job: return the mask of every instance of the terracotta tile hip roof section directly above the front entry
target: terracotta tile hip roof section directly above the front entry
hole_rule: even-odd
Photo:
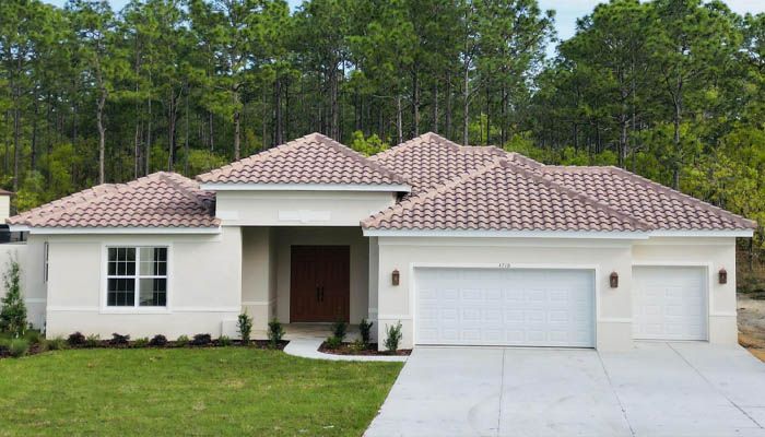
[[[407,185],[407,180],[320,133],[197,176],[209,184]]]

